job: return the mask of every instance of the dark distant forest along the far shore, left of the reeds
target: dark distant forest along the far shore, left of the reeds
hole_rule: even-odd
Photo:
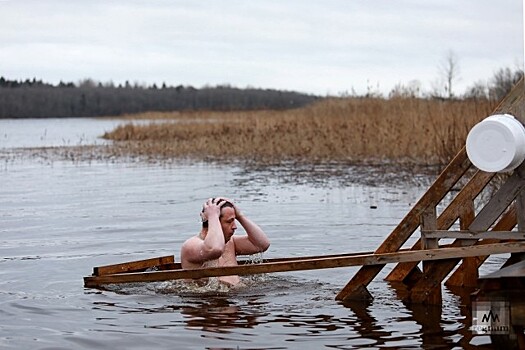
[[[240,89],[229,85],[141,86],[97,83],[57,85],[41,80],[15,81],[0,77],[0,118],[117,116],[146,111],[257,110],[304,106],[314,95],[271,89]]]

